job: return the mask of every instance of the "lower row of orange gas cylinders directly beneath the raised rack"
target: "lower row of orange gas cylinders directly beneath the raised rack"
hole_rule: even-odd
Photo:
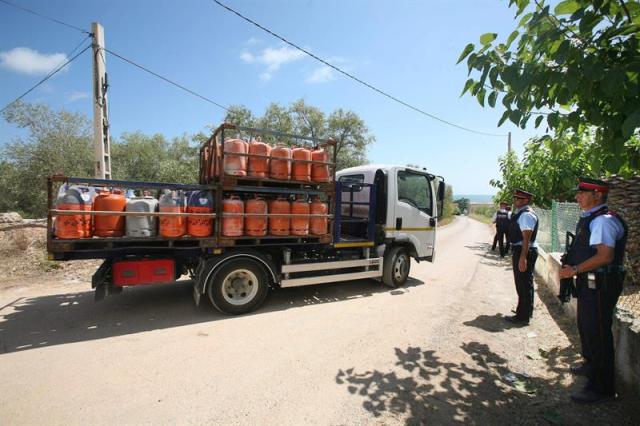
[[[266,200],[256,195],[243,200],[230,194],[222,200],[222,229],[225,237],[326,235],[328,205],[314,197],[298,196]]]

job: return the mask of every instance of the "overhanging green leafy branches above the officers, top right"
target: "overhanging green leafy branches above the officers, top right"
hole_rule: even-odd
[[[598,172],[637,173],[640,155],[628,141],[640,127],[640,3],[549,3],[509,0],[517,28],[502,42],[483,34],[460,55],[471,76],[463,94],[504,108],[498,125],[525,128],[535,118],[536,127],[545,123],[559,135],[594,128]]]

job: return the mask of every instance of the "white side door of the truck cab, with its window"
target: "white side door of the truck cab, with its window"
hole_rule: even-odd
[[[395,240],[411,242],[418,258],[432,257],[436,232],[430,176],[412,170],[398,170],[395,186],[395,200],[390,200],[394,204],[395,220],[392,224],[395,226],[387,229],[387,234],[391,233]]]

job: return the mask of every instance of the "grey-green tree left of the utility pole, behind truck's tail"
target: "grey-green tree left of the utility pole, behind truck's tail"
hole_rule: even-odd
[[[52,111],[43,104],[16,102],[4,119],[27,131],[0,152],[3,209],[42,217],[47,211],[47,177],[92,176],[91,123],[86,116]]]

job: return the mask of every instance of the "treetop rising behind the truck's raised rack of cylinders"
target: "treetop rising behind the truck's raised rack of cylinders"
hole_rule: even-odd
[[[375,141],[365,122],[356,113],[339,108],[326,116],[319,108],[308,105],[303,99],[295,101],[288,108],[272,103],[261,117],[255,117],[244,106],[235,105],[229,108],[225,121],[282,133],[333,138],[336,141],[338,170],[365,164],[367,146]],[[276,142],[274,137],[264,139]],[[279,138],[277,142],[290,145],[293,141]]]

